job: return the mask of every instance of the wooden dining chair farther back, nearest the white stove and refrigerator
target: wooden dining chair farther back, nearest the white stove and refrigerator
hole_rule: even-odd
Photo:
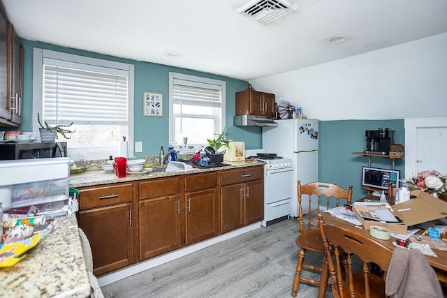
[[[307,195],[308,198],[303,200],[302,195]],[[320,204],[325,206],[326,209],[329,209],[338,207],[339,200],[346,200],[348,204],[351,204],[352,185],[349,186],[349,189],[344,189],[336,184],[326,182],[312,182],[302,186],[301,181],[298,180],[298,216],[300,220],[300,234],[296,237],[295,243],[300,246],[300,253],[298,264],[296,265],[295,277],[293,278],[292,297],[296,297],[301,281],[312,285],[320,284],[319,279],[303,277],[301,274],[303,268],[321,273],[321,267],[304,264],[306,251],[321,253],[322,262],[325,262],[325,248],[323,246],[321,234],[317,230],[317,227],[312,225],[312,202],[316,201],[317,213],[320,213]],[[305,205],[309,207],[309,213],[307,215],[302,214],[302,207]],[[321,276],[321,278],[327,278],[327,276]]]

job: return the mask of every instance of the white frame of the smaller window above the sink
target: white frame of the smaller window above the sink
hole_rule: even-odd
[[[221,87],[221,130],[223,131],[226,128],[226,82],[223,80],[214,80],[207,77],[199,77],[196,75],[185,75],[183,73],[169,73],[169,144],[175,142],[175,117],[174,117],[174,95],[173,95],[173,87],[174,80],[184,80],[191,82],[191,86],[196,84],[212,84]],[[188,85],[188,84],[185,84]],[[206,117],[203,117],[206,118]],[[221,133],[221,132],[219,132]],[[182,154],[191,154],[201,147],[207,146],[207,143],[203,144],[194,144],[193,149],[179,149]]]

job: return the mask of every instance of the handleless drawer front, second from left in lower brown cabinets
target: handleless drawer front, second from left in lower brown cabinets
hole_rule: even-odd
[[[151,179],[138,183],[139,199],[173,195],[180,192],[180,178]]]

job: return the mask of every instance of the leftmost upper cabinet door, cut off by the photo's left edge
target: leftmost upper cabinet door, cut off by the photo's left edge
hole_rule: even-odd
[[[10,117],[8,98],[8,20],[3,11],[3,5],[0,5],[0,118],[3,121],[9,121]]]

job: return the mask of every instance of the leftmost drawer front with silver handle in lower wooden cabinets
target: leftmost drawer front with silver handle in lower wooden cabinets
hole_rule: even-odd
[[[131,202],[132,184],[103,185],[80,188],[80,209],[85,210],[121,202]]]

